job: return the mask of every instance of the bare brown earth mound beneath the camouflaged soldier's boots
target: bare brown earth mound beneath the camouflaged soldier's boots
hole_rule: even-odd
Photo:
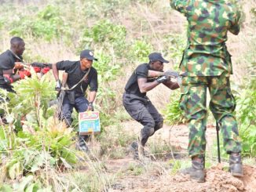
[[[244,166],[244,176],[242,179],[232,176],[223,170],[222,165],[215,166],[207,170],[205,183],[196,183],[189,176],[127,176],[119,180],[119,189],[110,191],[228,191],[239,192],[256,190],[256,168]]]

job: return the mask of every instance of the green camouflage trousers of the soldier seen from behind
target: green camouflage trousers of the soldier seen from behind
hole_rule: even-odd
[[[181,110],[188,118],[189,157],[203,158],[206,150],[207,89],[210,92],[210,110],[218,121],[225,151],[241,151],[241,143],[233,111],[236,101],[232,96],[229,77],[225,74],[210,77],[183,77],[181,85]]]

